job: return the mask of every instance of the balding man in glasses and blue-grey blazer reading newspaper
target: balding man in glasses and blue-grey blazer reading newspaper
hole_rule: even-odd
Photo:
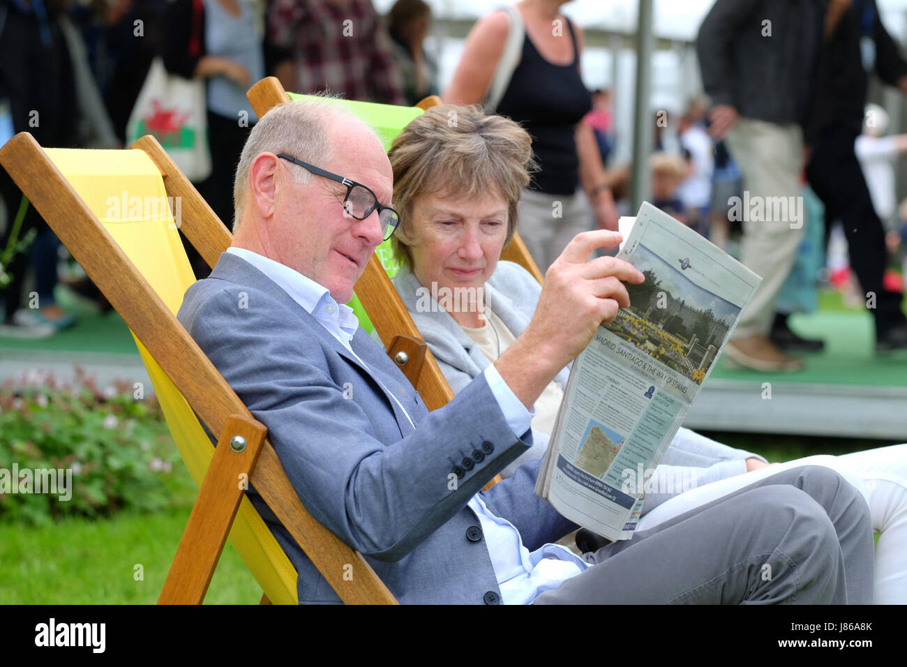
[[[400,602],[870,602],[868,508],[825,468],[767,477],[581,558],[551,544],[576,526],[533,493],[539,460],[482,492],[531,445],[542,388],[629,304],[623,282],[643,277],[586,261],[619,235],[580,234],[548,271],[529,328],[429,413],[342,305],[393,232],[392,184],[355,117],[324,103],[273,108],[240,158],[233,245],[179,318],[268,427],[308,511]],[[299,601],[336,603],[250,495],[297,568]]]

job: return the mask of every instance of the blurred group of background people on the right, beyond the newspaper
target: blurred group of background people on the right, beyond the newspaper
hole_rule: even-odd
[[[788,316],[817,308],[819,280],[865,305],[875,352],[907,349],[907,206],[895,204],[893,167],[907,139],[886,136],[888,114],[865,105],[870,76],[907,92],[907,61],[875,0],[716,0],[697,59],[704,97],[654,113],[649,200],[763,278],[727,360],[805,368],[790,352],[824,340],[797,335]],[[732,205],[777,198],[802,202],[805,219],[754,219]]]

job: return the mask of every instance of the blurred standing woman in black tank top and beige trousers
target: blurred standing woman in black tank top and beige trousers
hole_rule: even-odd
[[[523,192],[520,235],[541,270],[580,231],[593,226],[617,230],[608,175],[594,135],[581,123],[591,108],[580,77],[582,31],[559,14],[563,4],[523,0],[515,6],[525,34],[519,62],[496,109],[532,135],[540,171]],[[505,12],[485,16],[473,26],[444,102],[483,101],[510,31]]]

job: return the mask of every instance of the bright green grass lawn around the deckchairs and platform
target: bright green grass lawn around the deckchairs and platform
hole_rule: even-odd
[[[846,309],[840,295],[821,292],[822,309]],[[882,440],[706,432],[728,446],[769,461],[845,454],[895,444]],[[156,514],[68,518],[41,527],[0,523],[0,604],[151,604],[189,518],[196,489],[177,464],[167,483],[171,506]],[[135,565],[143,577],[137,580]],[[256,604],[261,589],[228,543],[205,602]]]

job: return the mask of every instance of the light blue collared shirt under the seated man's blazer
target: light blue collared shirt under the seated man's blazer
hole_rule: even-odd
[[[278,261],[270,260],[251,250],[228,248],[227,251],[248,261],[273,280],[291,299],[317,319],[341,345],[356,355],[350,346],[350,340],[359,328],[359,320],[356,319],[353,309],[345,304],[338,304],[326,287]],[[527,410],[522,405],[494,364],[489,364],[483,373],[514,435],[519,437],[526,433],[532,424],[532,415],[535,411]],[[391,392],[387,393],[394,396]],[[397,404],[406,412],[399,401]],[[410,422],[412,423],[412,419]],[[485,506],[480,495],[473,495],[468,505],[482,525],[503,603],[532,603],[539,593],[557,588],[565,579],[580,574],[589,567],[589,564],[569,549],[558,544],[545,544],[530,553],[523,546],[519,531],[506,519],[494,515]]]

